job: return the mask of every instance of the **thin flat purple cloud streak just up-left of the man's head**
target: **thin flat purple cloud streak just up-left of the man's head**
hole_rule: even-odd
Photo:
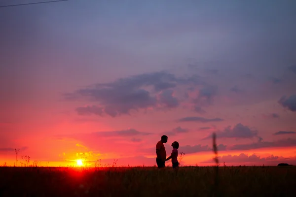
[[[100,132],[93,132],[92,134],[98,137],[114,137],[114,136],[130,137],[130,136],[136,136],[136,135],[150,135],[152,133],[140,132],[135,129],[128,129],[128,130],[121,130],[121,131],[100,131]]]

